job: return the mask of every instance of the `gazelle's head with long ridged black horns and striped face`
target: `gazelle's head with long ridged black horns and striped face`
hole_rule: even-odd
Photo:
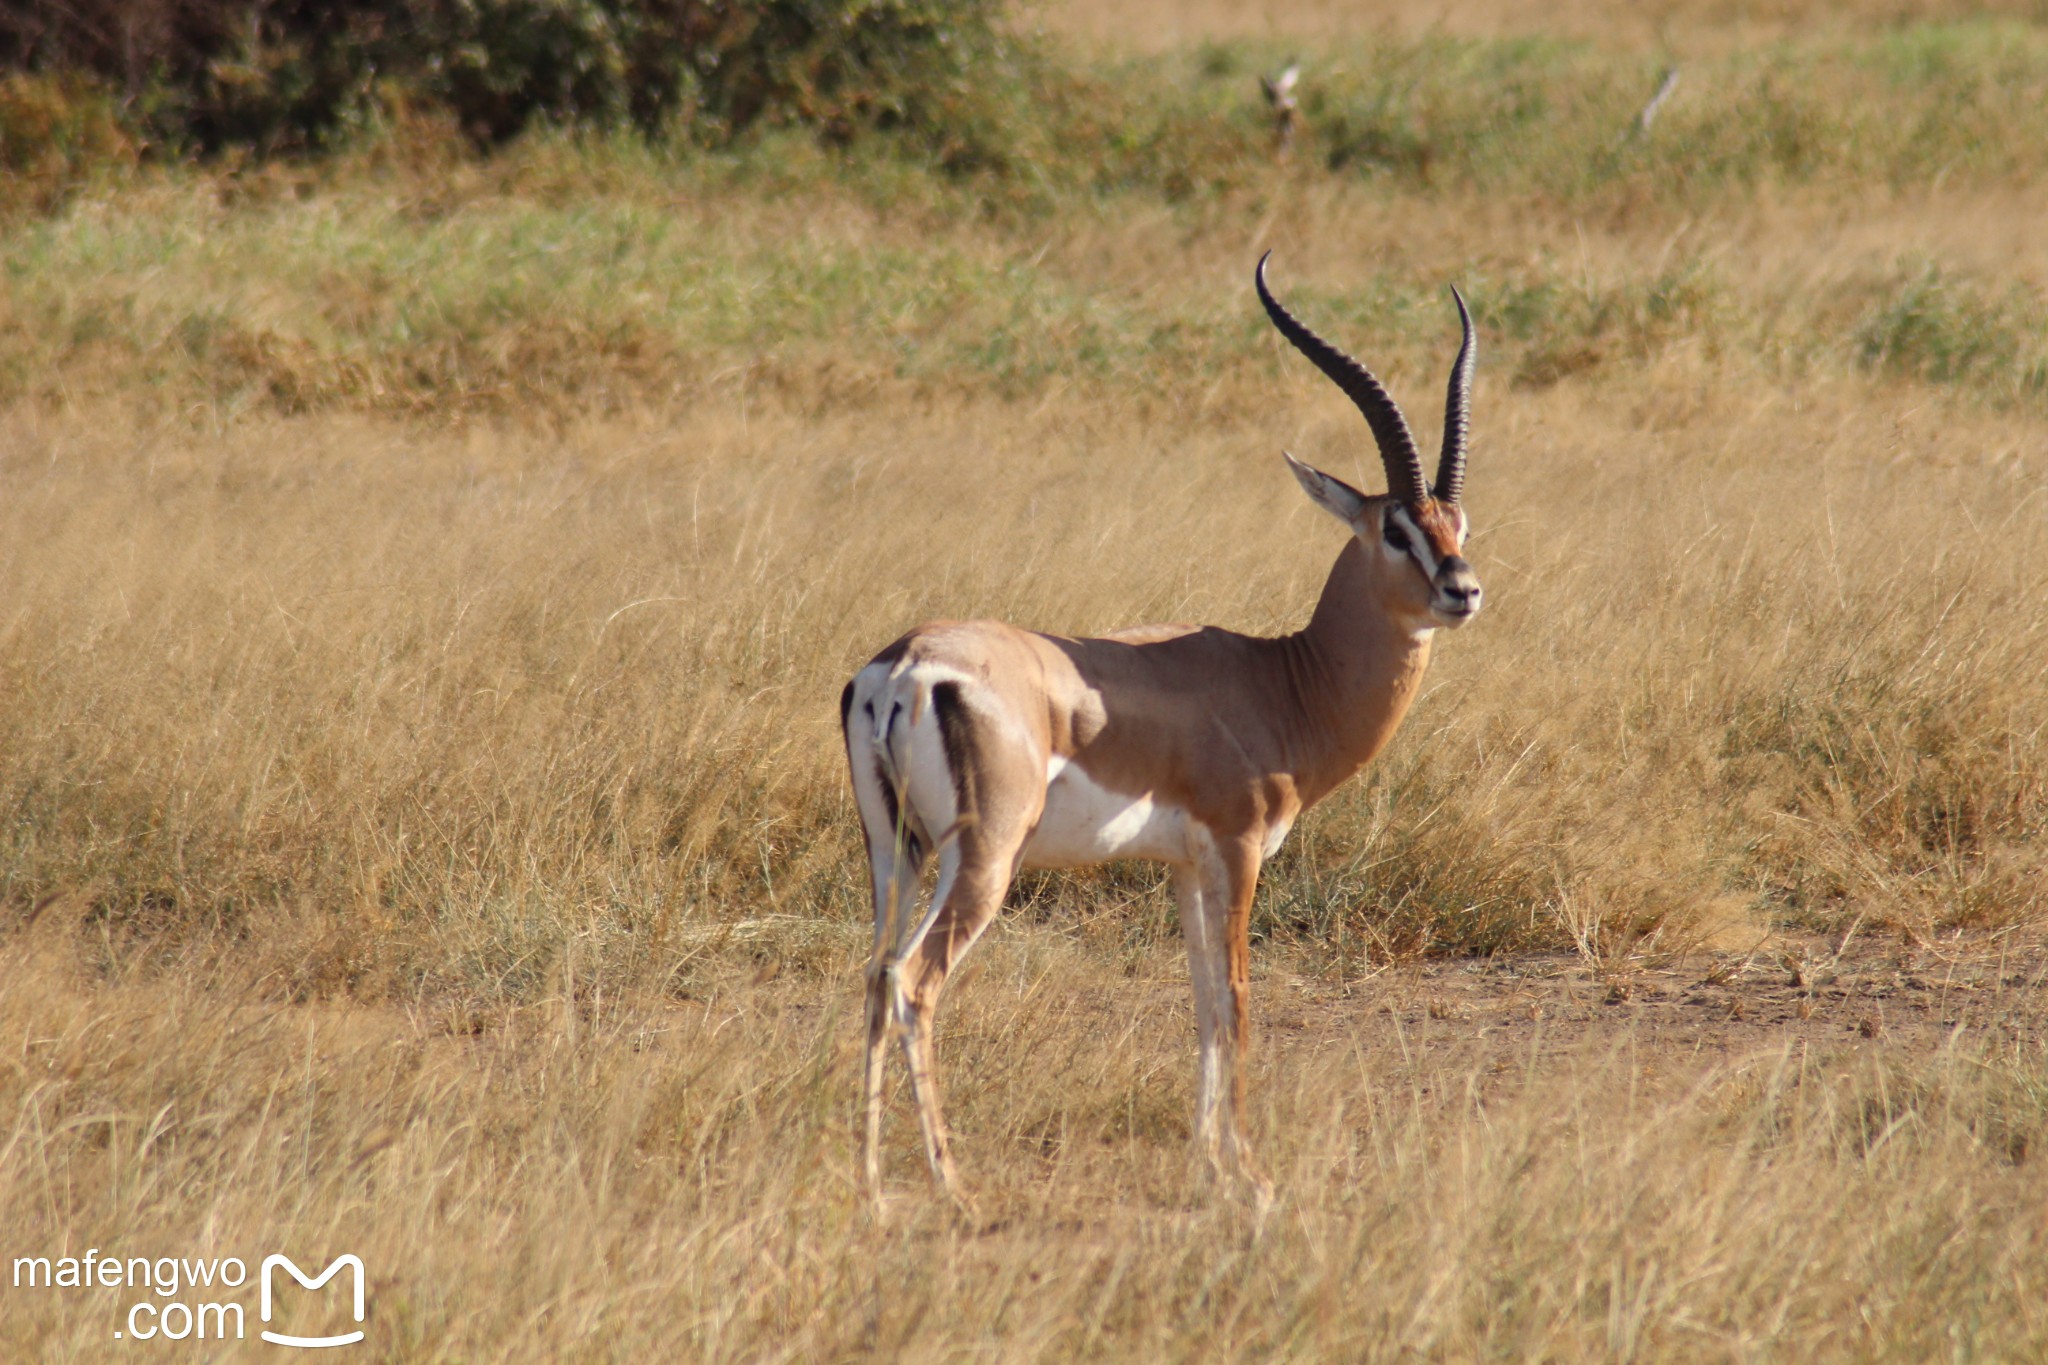
[[[1368,497],[1343,479],[1325,475],[1321,469],[1303,465],[1292,454],[1288,467],[1300,481],[1303,491],[1339,522],[1352,528],[1366,551],[1368,563],[1378,569],[1378,579],[1391,593],[1386,606],[1432,626],[1462,626],[1479,614],[1479,577],[1473,565],[1464,563],[1464,508],[1458,497],[1464,491],[1466,454],[1466,407],[1473,399],[1473,315],[1464,307],[1464,297],[1452,289],[1458,303],[1458,321],[1464,340],[1458,358],[1450,366],[1450,393],[1444,399],[1444,454],[1436,467],[1436,483],[1423,481],[1421,456],[1415,452],[1415,436],[1409,434],[1407,417],[1393,397],[1372,377],[1372,370],[1352,360],[1341,350],[1309,332],[1280,301],[1266,289],[1266,258],[1253,282],[1260,303],[1294,350],[1309,356],[1315,368],[1323,370],[1372,428],[1372,440],[1380,448],[1380,463],[1386,467],[1386,493]]]

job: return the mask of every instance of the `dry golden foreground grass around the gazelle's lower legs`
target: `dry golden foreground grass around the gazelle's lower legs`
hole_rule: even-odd
[[[944,1025],[981,1214],[905,1185],[877,1228],[852,1142],[858,943],[827,939],[834,970],[770,982],[713,950],[690,999],[586,995],[563,966],[477,1033],[276,1005],[236,952],[82,982],[61,945],[16,939],[10,1254],[354,1250],[377,1359],[2048,1345],[2040,976],[1995,958],[1927,964],[1960,1029],[1935,1046],[1714,1046],[1528,982],[1466,1005],[1427,980],[1262,974],[1255,1109],[1284,1193],[1260,1230],[1190,1193],[1176,954],[1006,927]],[[10,1349],[39,1359],[121,1359],[111,1332],[147,1297],[6,1295]]]

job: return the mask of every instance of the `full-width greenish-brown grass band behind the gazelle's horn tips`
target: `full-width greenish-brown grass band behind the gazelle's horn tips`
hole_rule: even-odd
[[[608,149],[549,153],[602,170]],[[1006,395],[1053,383],[1155,393],[1190,370],[1282,364],[1223,287],[1145,297],[1100,284],[1085,262],[1034,260],[1004,231],[877,244],[782,231],[760,201],[664,199],[487,194],[422,215],[344,182],[223,213],[211,182],[180,178],[76,207],[0,239],[0,399],[121,389],[229,415],[461,413],[621,407],[762,364],[809,377],[850,362]],[[1585,280],[1577,262],[1536,254],[1481,264],[1462,284],[1522,385],[1702,344],[1759,372],[1880,368],[1997,401],[2048,393],[2040,297],[1958,270],[1905,262],[1792,305],[1706,256]],[[1380,366],[1425,364],[1448,334],[1442,287],[1407,262],[1288,297]]]

